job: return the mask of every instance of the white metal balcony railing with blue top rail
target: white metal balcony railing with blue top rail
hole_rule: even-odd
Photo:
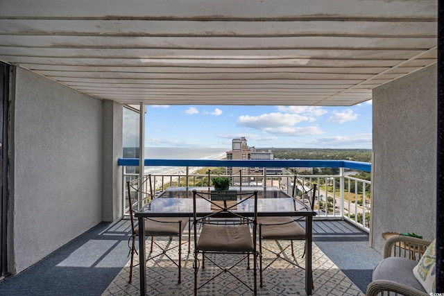
[[[123,189],[126,189],[128,180],[140,176],[138,165],[139,159],[119,159],[119,166],[123,166]],[[366,230],[370,227],[371,182],[346,174],[350,170],[370,172],[370,163],[341,160],[145,159],[144,165],[146,171],[156,166],[169,166],[174,171],[170,174],[151,174],[154,196],[170,186],[211,186],[211,177],[223,175],[231,177],[232,183],[237,186],[277,186],[287,194],[308,202],[313,184],[317,184],[314,210],[318,218],[345,219]],[[294,174],[292,171],[295,168],[339,168],[339,174]],[[125,190],[122,192],[122,203],[125,215],[128,211]]]

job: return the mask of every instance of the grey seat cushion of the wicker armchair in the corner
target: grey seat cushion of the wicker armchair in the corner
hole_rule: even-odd
[[[404,257],[388,257],[382,260],[375,267],[375,270],[373,270],[373,281],[377,279],[386,279],[425,292],[424,288],[412,272],[413,267],[415,267],[417,263],[417,261]]]

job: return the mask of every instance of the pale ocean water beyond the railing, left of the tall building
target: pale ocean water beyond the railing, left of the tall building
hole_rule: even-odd
[[[145,158],[151,159],[223,159],[225,152],[230,148],[173,148],[173,147],[146,147]],[[190,168],[194,171],[196,168]],[[162,174],[180,172],[185,173],[185,167],[179,166],[147,166],[145,173]]]

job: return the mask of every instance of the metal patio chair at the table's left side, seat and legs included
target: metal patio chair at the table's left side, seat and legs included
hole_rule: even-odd
[[[146,175],[145,177],[139,178],[137,180],[126,182],[128,189],[128,204],[130,208],[130,220],[131,220],[131,236],[129,240],[131,240],[130,245],[130,253],[131,255],[130,261],[130,277],[128,283],[133,281],[133,268],[137,265],[134,265],[134,254],[137,254],[135,239],[139,235],[139,228],[136,226],[134,213],[135,211],[142,209],[144,204],[151,202],[153,200],[153,189],[151,186],[151,175]],[[153,245],[162,250],[159,254],[155,254],[154,256],[149,256],[146,261],[153,260],[159,256],[166,256],[171,262],[174,263],[179,269],[178,272],[178,284],[181,281],[181,254],[182,254],[182,244],[187,243],[186,241],[182,243],[182,232],[188,224],[188,253],[191,251],[190,241],[191,241],[191,220],[190,218],[183,217],[159,217],[159,218],[145,218],[145,236],[151,236],[151,248],[149,254],[153,253]],[[159,243],[157,243],[154,239],[155,236],[167,236],[169,237],[169,243],[165,247],[162,247]],[[174,236],[178,237],[178,244],[170,247],[170,243]],[[128,241],[128,245],[130,241]],[[169,256],[167,252],[178,248],[178,261],[174,260]]]

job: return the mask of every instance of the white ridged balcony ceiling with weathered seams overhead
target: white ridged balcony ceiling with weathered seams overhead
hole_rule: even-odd
[[[0,60],[124,104],[354,105],[436,52],[436,0],[0,1]]]

